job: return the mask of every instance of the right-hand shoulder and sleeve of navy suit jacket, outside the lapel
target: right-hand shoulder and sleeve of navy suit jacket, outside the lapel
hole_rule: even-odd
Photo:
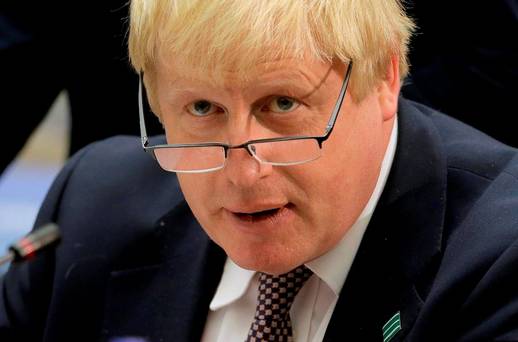
[[[459,340],[517,338],[510,323],[518,316],[517,149],[403,102],[404,115],[435,131],[434,144],[445,159],[441,253],[418,321],[455,321],[450,329]]]

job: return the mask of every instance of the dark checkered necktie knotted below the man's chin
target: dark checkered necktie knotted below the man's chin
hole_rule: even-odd
[[[246,342],[293,341],[291,304],[311,274],[304,265],[278,276],[261,273],[257,309]]]

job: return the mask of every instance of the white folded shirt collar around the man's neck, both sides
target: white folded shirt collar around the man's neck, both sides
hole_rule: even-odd
[[[342,290],[363,234],[385,187],[396,153],[397,136],[398,124],[396,115],[389,144],[381,163],[378,181],[360,216],[333,249],[306,263],[306,266],[329,286],[336,296]],[[255,271],[239,267],[230,258],[227,258],[218,289],[210,303],[210,309],[213,311],[218,310],[241,298],[245,294],[255,273]]]

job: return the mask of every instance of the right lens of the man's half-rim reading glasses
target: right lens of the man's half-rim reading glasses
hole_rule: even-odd
[[[251,144],[250,151],[260,161],[274,165],[307,163],[322,154],[318,142],[312,138]]]

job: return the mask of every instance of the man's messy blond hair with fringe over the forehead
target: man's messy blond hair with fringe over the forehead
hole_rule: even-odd
[[[181,59],[215,84],[277,59],[353,60],[360,100],[393,56],[406,76],[413,28],[399,0],[131,0],[129,55],[145,73]]]

